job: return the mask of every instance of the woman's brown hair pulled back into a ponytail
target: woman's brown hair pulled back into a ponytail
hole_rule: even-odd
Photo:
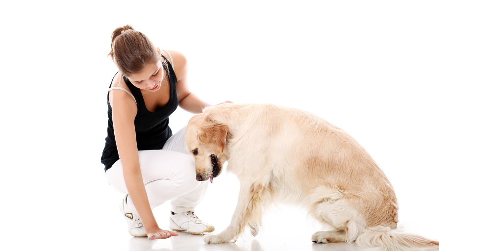
[[[124,76],[140,72],[147,64],[164,61],[152,41],[130,25],[118,27],[111,33],[108,56]]]

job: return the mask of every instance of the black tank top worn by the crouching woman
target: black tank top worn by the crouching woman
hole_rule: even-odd
[[[138,114],[136,114],[136,118],[134,119],[134,126],[136,128],[136,143],[140,151],[160,150],[164,147],[167,139],[173,135],[171,128],[169,128],[169,115],[178,107],[178,96],[176,95],[176,82],[178,82],[178,79],[169,61],[167,61],[164,56],[162,56],[162,58],[167,62],[167,65],[164,62],[162,65],[164,70],[168,73],[171,96],[167,104],[160,110],[155,112],[149,111],[145,105],[141,90],[134,86],[129,79],[123,77],[138,105]],[[118,160],[115,133],[113,132],[111,105],[108,96],[109,92],[106,95],[106,99],[108,100],[108,136],[105,138],[106,143],[104,144],[104,150],[101,156],[101,163],[104,164],[105,172]]]

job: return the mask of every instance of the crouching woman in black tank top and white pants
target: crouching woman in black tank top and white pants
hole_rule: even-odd
[[[178,104],[192,113],[211,106],[189,91],[185,57],[156,48],[129,25],[113,31],[108,55],[119,71],[108,89],[108,136],[101,163],[110,185],[126,193],[120,211],[129,233],[151,240],[177,236],[161,229],[152,213],[171,199],[172,230],[213,231],[193,212],[208,182],[195,179],[185,128],[174,135],[169,128],[169,115]]]

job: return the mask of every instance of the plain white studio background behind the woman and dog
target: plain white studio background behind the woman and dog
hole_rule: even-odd
[[[0,246],[127,246],[123,195],[99,162],[117,71],[106,55],[111,32],[126,24],[182,52],[191,90],[209,103],[296,107],[347,131],[392,182],[406,229],[444,248],[491,245],[502,167],[495,3],[2,4]],[[191,116],[178,108],[173,131]],[[228,225],[237,190],[235,176],[223,174],[197,208],[216,232]],[[168,211],[169,203],[154,210],[161,227]],[[264,225],[278,220],[309,224],[284,207]]]

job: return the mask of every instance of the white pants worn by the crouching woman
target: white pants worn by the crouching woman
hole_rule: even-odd
[[[171,211],[190,211],[206,193],[209,181],[195,179],[195,160],[186,150],[185,131],[186,127],[169,138],[162,150],[138,151],[143,184],[151,208],[172,200]],[[115,190],[128,193],[120,160],[106,170],[106,178]],[[128,206],[138,214],[132,200],[128,200]]]

